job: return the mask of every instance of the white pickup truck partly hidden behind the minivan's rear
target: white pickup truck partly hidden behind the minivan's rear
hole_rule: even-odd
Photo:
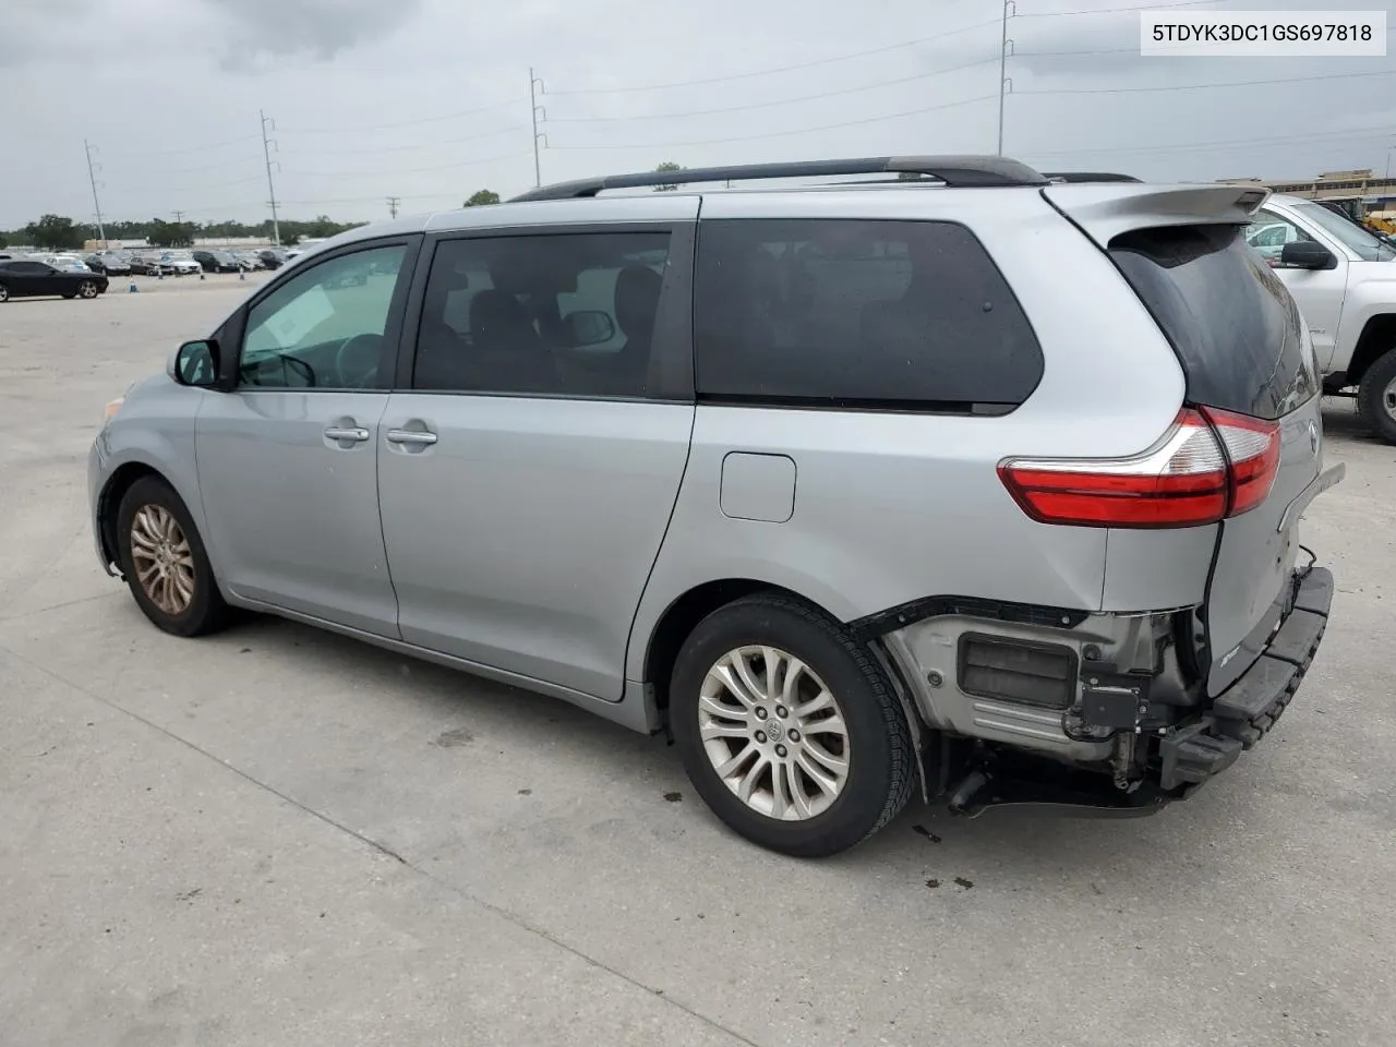
[[[1314,338],[1323,392],[1357,398],[1396,444],[1396,247],[1322,204],[1275,195],[1247,240],[1294,295]]]

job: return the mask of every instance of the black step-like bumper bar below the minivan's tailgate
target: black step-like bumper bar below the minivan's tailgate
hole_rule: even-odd
[[[1300,581],[1294,609],[1255,663],[1217,697],[1206,716],[1160,743],[1163,789],[1202,785],[1275,726],[1318,653],[1332,604],[1333,574],[1309,568]]]

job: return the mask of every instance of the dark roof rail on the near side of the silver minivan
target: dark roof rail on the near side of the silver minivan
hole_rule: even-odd
[[[677,186],[694,181],[737,181],[748,179],[800,179],[831,174],[926,174],[946,186],[1046,186],[1047,179],[1026,163],[1004,156],[863,156],[846,161],[793,161],[789,163],[744,163],[732,168],[685,168],[609,174],[596,179],[560,181],[529,190],[522,200],[581,200],[609,188]]]

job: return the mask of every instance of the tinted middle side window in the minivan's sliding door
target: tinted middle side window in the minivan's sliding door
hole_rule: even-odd
[[[412,385],[441,392],[644,396],[669,233],[444,240]]]

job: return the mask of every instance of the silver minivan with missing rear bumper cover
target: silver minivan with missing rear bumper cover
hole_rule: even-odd
[[[652,172],[349,230],[109,408],[102,565],[176,635],[271,611],[667,730],[792,854],[919,789],[1149,812],[1262,738],[1343,475],[1245,244],[1263,191],[680,174],[882,181],[604,193]]]

